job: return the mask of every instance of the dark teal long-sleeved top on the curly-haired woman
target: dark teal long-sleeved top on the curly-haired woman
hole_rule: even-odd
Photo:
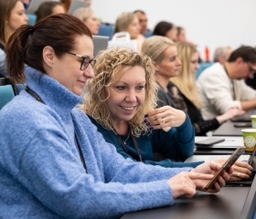
[[[116,150],[123,155],[124,158],[132,158],[139,161],[138,153],[133,145],[133,140],[128,135],[120,137],[126,142],[128,153],[123,150],[122,143],[112,130],[104,129],[101,124],[90,117],[93,124],[97,126],[104,139],[112,143]],[[191,125],[188,117],[185,122],[171,130],[153,130],[150,135],[141,135],[135,138],[141,151],[143,162],[146,164],[160,165],[164,167],[196,167],[202,162],[184,162],[188,157],[194,154],[195,130]],[[160,154],[164,159],[155,161],[154,154]]]

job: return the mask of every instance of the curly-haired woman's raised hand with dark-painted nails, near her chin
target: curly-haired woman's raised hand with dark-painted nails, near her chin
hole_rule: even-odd
[[[176,110],[170,106],[152,110],[147,115],[145,120],[154,130],[178,127],[186,120],[184,111]]]

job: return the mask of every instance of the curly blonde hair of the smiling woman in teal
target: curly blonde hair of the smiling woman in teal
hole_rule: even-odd
[[[138,137],[148,133],[144,124],[144,115],[156,106],[155,68],[150,57],[134,52],[130,48],[112,47],[97,57],[93,68],[94,78],[87,82],[83,104],[80,106],[86,114],[100,123],[105,129],[113,130],[112,115],[106,100],[109,99],[107,89],[119,78],[117,74],[130,68],[140,66],[145,71],[145,99],[132,120],[129,121],[131,131]]]

